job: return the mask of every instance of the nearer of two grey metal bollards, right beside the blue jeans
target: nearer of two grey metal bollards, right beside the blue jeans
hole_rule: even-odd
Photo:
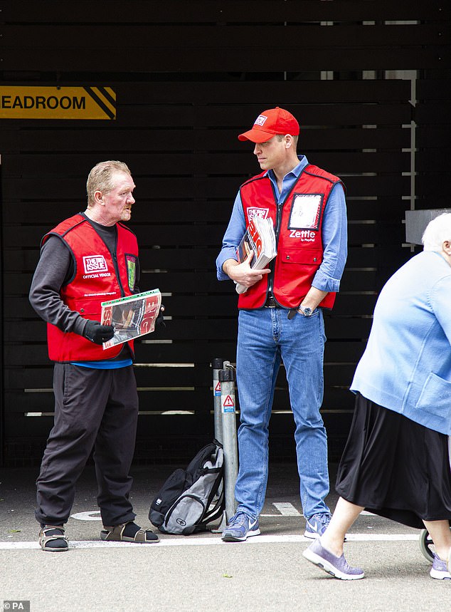
[[[238,445],[235,413],[235,369],[219,371],[221,383],[221,412],[223,417],[224,493],[226,495],[226,521],[236,510],[235,483],[238,476]]]

